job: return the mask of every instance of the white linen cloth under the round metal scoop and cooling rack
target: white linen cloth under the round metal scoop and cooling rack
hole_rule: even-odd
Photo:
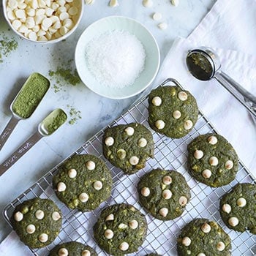
[[[154,85],[175,78],[192,92],[199,108],[236,148],[255,175],[256,128],[248,111],[215,80],[202,82],[189,74],[187,50],[206,45],[217,50],[222,69],[256,94],[256,0],[219,0],[188,39],[178,38],[165,56]],[[15,233],[0,244],[0,255],[32,255]]]

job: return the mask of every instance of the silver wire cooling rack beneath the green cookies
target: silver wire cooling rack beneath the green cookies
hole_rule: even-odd
[[[161,85],[169,85],[172,83],[172,79],[167,79]],[[148,126],[148,102],[147,98],[140,99],[132,108],[127,110],[126,113],[121,115],[116,121],[113,121],[109,127],[113,127],[117,124],[129,124],[131,122],[139,122],[140,124]],[[187,173],[187,145],[191,140],[198,135],[208,132],[217,133],[216,129],[211,125],[206,116],[203,113],[199,113],[197,124],[195,128],[189,132],[189,135],[181,139],[170,139],[165,135],[159,135],[157,132],[151,130],[154,143],[154,159],[149,159],[146,163],[146,167],[143,170],[138,171],[131,176],[126,176],[124,173],[110,165],[108,161],[102,156],[102,135],[104,129],[99,131],[94,137],[87,141],[81,148],[74,154],[94,154],[97,157],[104,160],[105,164],[110,168],[113,174],[113,191],[108,201],[104,202],[95,211],[88,213],[81,213],[80,211],[70,211],[67,206],[64,206],[56,197],[52,187],[52,178],[58,170],[59,163],[56,167],[50,170],[45,176],[39,179],[32,187],[27,189],[18,198],[12,201],[4,208],[4,217],[10,224],[10,217],[15,206],[22,203],[24,200],[31,199],[33,197],[47,197],[53,200],[61,209],[63,214],[63,225],[59,236],[53,241],[52,244],[43,249],[31,250],[34,255],[48,255],[50,249],[56,244],[66,241],[80,241],[81,243],[88,244],[93,247],[97,253],[101,255],[107,255],[93,238],[92,227],[99,217],[100,211],[106,206],[113,203],[129,203],[134,205],[143,214],[146,215],[148,222],[148,235],[143,246],[139,251],[130,255],[146,255],[149,252],[157,252],[160,255],[177,255],[176,253],[176,238],[180,233],[180,230],[187,222],[192,219],[202,217],[215,220],[223,227],[226,233],[229,234],[232,240],[232,255],[233,256],[252,256],[256,255],[256,236],[251,235],[249,232],[238,233],[234,230],[229,230],[219,214],[219,198],[228,192],[238,182],[255,183],[255,178],[249,173],[249,170],[244,167],[243,163],[239,162],[238,174],[236,180],[230,184],[219,187],[211,188],[204,184],[200,184],[195,181],[194,178]],[[74,155],[72,154],[72,155]],[[70,156],[72,157],[72,156]],[[138,195],[136,185],[141,176],[151,169],[161,167],[165,170],[178,170],[187,180],[189,187],[191,188],[192,199],[189,201],[184,214],[175,220],[162,222],[158,219],[152,218],[138,203]]]

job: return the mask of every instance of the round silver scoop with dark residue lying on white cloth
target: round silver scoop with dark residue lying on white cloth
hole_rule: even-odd
[[[219,56],[214,50],[205,47],[189,50],[186,62],[189,72],[195,78],[199,80],[215,78],[244,105],[256,121],[256,97],[220,69]]]

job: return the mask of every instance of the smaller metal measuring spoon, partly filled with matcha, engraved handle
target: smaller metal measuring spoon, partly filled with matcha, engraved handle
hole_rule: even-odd
[[[60,108],[53,110],[39,125],[34,133],[25,143],[23,143],[10,157],[0,165],[0,176],[5,173],[15,162],[26,154],[42,137],[52,135],[67,120],[67,114]]]

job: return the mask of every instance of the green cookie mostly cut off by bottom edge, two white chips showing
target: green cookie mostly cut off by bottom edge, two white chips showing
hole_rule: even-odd
[[[50,250],[48,256],[97,256],[97,253],[90,246],[72,241],[58,244]]]

